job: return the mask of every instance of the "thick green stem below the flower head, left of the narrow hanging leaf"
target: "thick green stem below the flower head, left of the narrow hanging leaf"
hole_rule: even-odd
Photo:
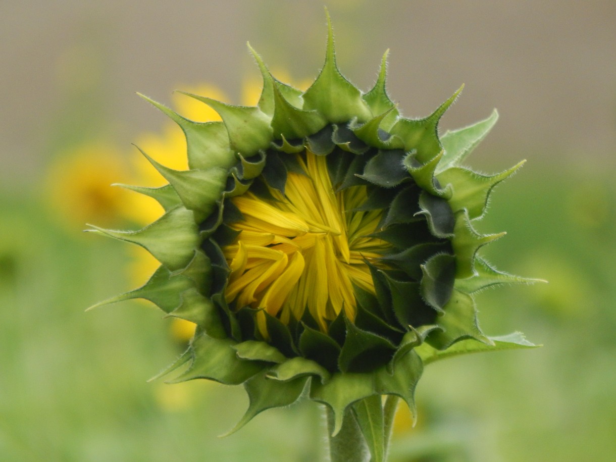
[[[334,413],[330,407],[325,406],[325,408],[327,434],[330,440],[330,462],[368,462],[370,451],[351,409],[347,409],[344,414],[340,431],[336,436],[331,436],[334,431]]]

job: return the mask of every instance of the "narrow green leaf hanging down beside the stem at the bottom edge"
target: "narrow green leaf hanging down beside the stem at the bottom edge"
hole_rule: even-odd
[[[383,462],[385,447],[383,402],[381,397],[373,395],[359,400],[353,404],[353,411],[368,448],[370,448],[370,461]]]

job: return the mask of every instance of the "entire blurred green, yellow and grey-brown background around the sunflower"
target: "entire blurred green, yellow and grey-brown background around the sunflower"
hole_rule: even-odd
[[[479,295],[484,331],[540,349],[429,367],[419,420],[399,411],[391,460],[609,461],[616,453],[616,6],[610,2],[331,0],[338,64],[362,89],[391,49],[388,89],[425,116],[461,83],[441,129],[501,118],[473,153],[496,188],[488,261],[545,285]],[[145,282],[139,248],[81,232],[160,210],[112,183],[162,184],[131,143],[182,168],[182,134],[134,94],[195,120],[173,89],[254,103],[250,41],[302,87],[325,50],[322,2],[15,2],[0,15],[0,460],[317,461],[314,405],[241,417],[243,391],[147,383],[190,325],[145,302],[84,313]],[[176,156],[177,153],[177,156]],[[158,184],[157,184],[158,182]],[[139,210],[139,214],[133,211]]]

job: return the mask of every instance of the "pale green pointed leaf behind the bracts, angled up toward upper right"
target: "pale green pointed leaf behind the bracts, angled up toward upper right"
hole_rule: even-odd
[[[468,127],[447,131],[440,137],[445,149],[445,155],[439,165],[439,171],[451,166],[460,165],[477,145],[487,136],[498,120],[498,111],[493,110],[487,119],[479,121]]]

